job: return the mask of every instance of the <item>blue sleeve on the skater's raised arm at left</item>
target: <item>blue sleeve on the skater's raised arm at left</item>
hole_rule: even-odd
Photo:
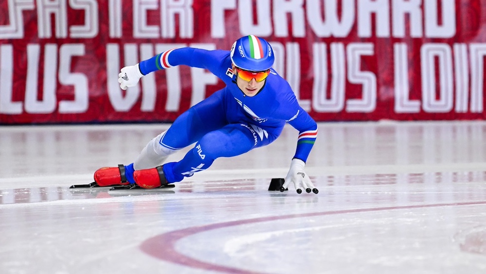
[[[226,75],[224,63],[229,51],[208,51],[196,48],[176,48],[164,51],[156,56],[140,62],[140,72],[147,75],[150,72],[186,65],[193,68],[206,68],[219,78]]]

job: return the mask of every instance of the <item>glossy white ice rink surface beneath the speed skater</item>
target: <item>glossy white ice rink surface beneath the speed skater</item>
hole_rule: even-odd
[[[0,273],[486,273],[485,121],[320,123],[317,195],[267,190],[290,126],[175,188],[69,189],[167,127],[0,127]]]

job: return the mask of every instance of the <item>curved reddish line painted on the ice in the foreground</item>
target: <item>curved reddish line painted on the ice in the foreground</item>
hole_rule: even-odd
[[[473,206],[473,205],[486,205],[486,201],[416,205],[416,206],[386,206],[386,207],[373,207],[373,208],[358,208],[358,209],[346,209],[346,210],[335,210],[335,211],[324,211],[324,212],[312,212],[306,214],[291,214],[291,215],[283,215],[283,216],[261,217],[261,218],[244,219],[244,220],[231,221],[225,223],[213,223],[213,224],[202,225],[202,226],[188,227],[185,229],[175,230],[175,231],[157,235],[155,237],[149,238],[144,242],[142,242],[142,244],[140,245],[140,249],[146,254],[156,257],[158,259],[191,267],[191,268],[200,269],[200,270],[210,270],[210,271],[239,273],[239,274],[258,273],[249,270],[243,270],[243,269],[232,268],[223,265],[212,264],[212,263],[204,262],[186,256],[182,253],[179,253],[175,249],[175,244],[178,240],[181,240],[182,238],[197,233],[206,232],[218,228],[249,224],[249,223],[261,223],[261,222],[286,220],[286,219],[293,219],[293,218],[305,218],[305,217],[312,217],[312,216],[337,215],[337,214],[358,213],[358,212],[373,212],[373,211],[383,211],[383,210],[413,209],[413,208],[427,208],[427,207],[440,207],[440,206]]]

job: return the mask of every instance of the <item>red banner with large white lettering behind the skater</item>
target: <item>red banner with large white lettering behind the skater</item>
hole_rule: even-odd
[[[317,121],[486,118],[486,0],[3,0],[0,123],[173,121],[222,81],[120,68],[247,34]]]

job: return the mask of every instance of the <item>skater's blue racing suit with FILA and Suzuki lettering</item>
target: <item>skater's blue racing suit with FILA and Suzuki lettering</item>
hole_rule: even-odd
[[[163,165],[168,182],[205,170],[218,157],[237,156],[270,144],[286,122],[299,131],[294,157],[307,160],[317,124],[297,103],[287,81],[271,69],[264,86],[249,97],[237,86],[231,64],[229,51],[195,48],[165,51],[139,63],[143,75],[178,65],[206,68],[226,84],[181,114],[160,138],[159,144],[172,150],[195,143],[182,160]],[[133,164],[127,170],[133,172]]]

